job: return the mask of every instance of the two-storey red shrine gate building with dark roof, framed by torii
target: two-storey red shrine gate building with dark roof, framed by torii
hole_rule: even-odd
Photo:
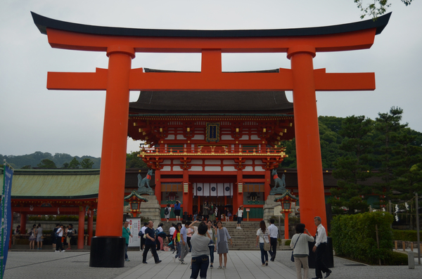
[[[277,146],[295,135],[293,103],[284,91],[141,91],[128,135],[146,142],[139,156],[154,169],[162,213],[175,200],[187,214],[213,202],[234,214],[248,205],[250,219],[262,219],[274,169],[288,156]]]

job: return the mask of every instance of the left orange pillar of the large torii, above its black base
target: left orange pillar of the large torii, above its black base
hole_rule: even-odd
[[[124,172],[129,115],[129,72],[134,48],[110,46],[101,152],[96,236],[122,236]]]

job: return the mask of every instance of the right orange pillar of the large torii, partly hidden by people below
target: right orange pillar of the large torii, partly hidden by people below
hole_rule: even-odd
[[[295,112],[296,161],[300,221],[310,233],[316,232],[314,217],[320,216],[326,227],[324,180],[314,83],[315,48],[294,46],[288,49],[293,72],[293,109]]]

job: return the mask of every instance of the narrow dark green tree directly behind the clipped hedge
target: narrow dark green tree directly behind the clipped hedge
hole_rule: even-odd
[[[369,207],[362,195],[373,192],[372,187],[365,183],[372,176],[369,166],[373,145],[370,137],[372,130],[371,119],[352,115],[344,119],[339,131],[344,136],[339,148],[346,155],[338,157],[335,162],[333,176],[338,179],[338,188],[331,189],[334,196],[331,203],[334,207],[347,207],[349,214],[365,212]]]

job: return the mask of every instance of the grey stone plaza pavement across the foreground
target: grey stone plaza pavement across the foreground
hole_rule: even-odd
[[[179,279],[190,278],[190,265],[174,263],[172,252],[158,252],[162,263],[154,264],[151,252],[148,253],[148,264],[141,264],[142,254],[129,251],[130,261],[124,268],[91,268],[89,267],[89,251],[53,252],[52,250],[32,250],[26,252],[11,251],[4,278],[89,278],[89,279]],[[295,279],[294,263],[290,261],[291,251],[278,251],[276,261],[269,266],[261,266],[260,251],[229,251],[227,268],[217,269],[218,255],[215,253],[215,268],[208,268],[207,278],[212,279]],[[186,256],[186,262],[191,254]],[[354,261],[334,257],[334,267],[329,278],[391,278],[421,279],[422,266],[416,264],[415,269],[407,266],[366,266]],[[315,275],[309,269],[309,277]],[[199,277],[198,277],[199,278]]]

